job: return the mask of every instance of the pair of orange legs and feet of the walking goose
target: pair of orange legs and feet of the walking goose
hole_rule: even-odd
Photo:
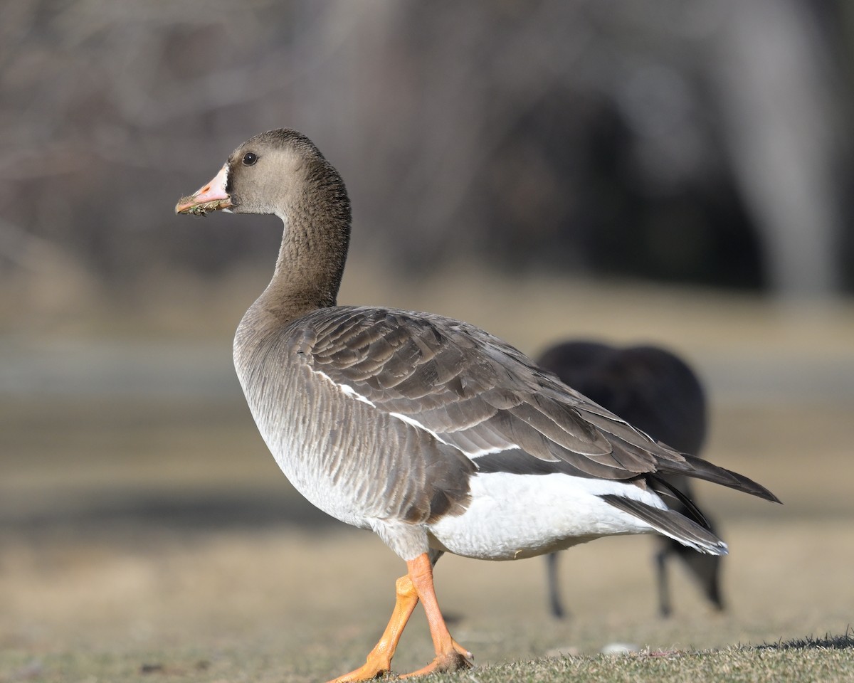
[[[424,611],[427,613],[430,636],[433,638],[433,645],[436,647],[436,659],[426,667],[419,668],[412,674],[405,674],[401,678],[430,674],[432,671],[455,671],[459,668],[471,668],[471,662],[468,660],[471,657],[471,652],[451,638],[442,612],[439,611],[439,605],[436,603],[436,592],[433,589],[433,565],[430,563],[430,557],[424,553],[414,560],[409,560],[407,569],[409,573],[406,576],[401,576],[395,582],[397,596],[395,609],[391,613],[389,624],[383,631],[383,635],[380,636],[377,645],[374,645],[373,650],[368,654],[366,662],[360,668],[354,669],[349,674],[338,676],[338,678],[330,680],[329,683],[355,683],[355,681],[371,680],[388,674],[391,670],[391,658],[395,656],[401,633],[403,633],[403,628],[407,625],[409,617],[412,616],[412,610],[418,604],[418,598],[421,599],[422,604],[424,604]]]

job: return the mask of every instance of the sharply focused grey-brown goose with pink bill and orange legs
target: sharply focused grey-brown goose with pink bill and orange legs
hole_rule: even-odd
[[[443,552],[510,560],[659,533],[721,555],[726,545],[699,511],[670,509],[681,494],[662,476],[776,500],[745,476],[653,441],[473,325],[337,306],[350,204],[341,176],[301,133],[251,138],[175,210],[284,222],[272,280],[237,327],[237,376],[294,486],[342,522],[373,529],[407,563],[379,642],[336,680],[389,672],[418,600],[436,658],[413,673],[471,666],[436,602],[432,571]],[[342,575],[345,566],[342,558]]]

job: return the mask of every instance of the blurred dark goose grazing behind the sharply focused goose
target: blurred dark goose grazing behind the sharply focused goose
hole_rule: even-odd
[[[544,370],[576,388],[611,412],[643,429],[680,452],[698,455],[706,433],[703,386],[685,360],[654,346],[612,347],[601,342],[574,340],[548,347],[537,358]],[[687,477],[662,476],[688,500],[693,500]],[[690,516],[687,505],[676,501],[673,510]],[[709,528],[714,530],[711,519]],[[697,552],[680,542],[658,536],[655,568],[658,575],[658,611],[672,611],[667,562],[678,557],[717,610],[723,609],[720,586],[721,557]],[[558,582],[558,555],[547,555],[549,606],[554,616],[564,616]]]

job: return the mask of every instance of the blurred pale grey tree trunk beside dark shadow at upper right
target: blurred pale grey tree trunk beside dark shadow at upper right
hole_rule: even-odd
[[[730,153],[762,231],[771,289],[825,295],[842,283],[843,144],[830,55],[808,3],[722,0],[713,61]]]

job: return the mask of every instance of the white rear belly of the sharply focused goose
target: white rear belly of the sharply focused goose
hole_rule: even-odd
[[[605,503],[599,498],[603,493],[665,507],[658,495],[632,484],[561,474],[477,474],[471,478],[471,505],[459,517],[432,524],[430,545],[465,557],[512,560],[601,536],[654,531]]]

